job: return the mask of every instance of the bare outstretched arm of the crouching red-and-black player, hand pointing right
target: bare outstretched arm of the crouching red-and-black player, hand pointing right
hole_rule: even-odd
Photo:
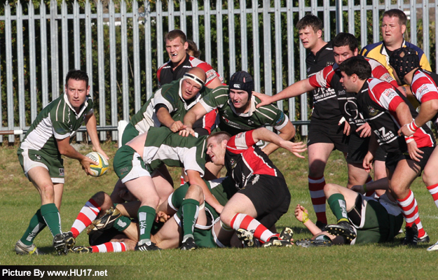
[[[265,127],[260,127],[256,130],[253,130],[252,139],[255,143],[260,140],[271,142],[292,152],[297,158],[304,158],[303,155],[300,155],[299,153],[307,150],[306,144],[303,144],[303,142],[294,143],[289,140],[282,139],[280,136],[278,136],[274,132],[271,132]]]

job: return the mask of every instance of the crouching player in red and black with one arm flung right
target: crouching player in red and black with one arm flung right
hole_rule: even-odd
[[[263,127],[233,137],[226,132],[210,135],[207,155],[214,165],[225,165],[238,190],[226,203],[221,221],[230,230],[253,232],[264,246],[291,246],[289,240],[278,239],[278,234],[268,230],[289,209],[290,193],[280,170],[256,146],[259,140],[271,142],[304,158],[299,155],[306,151],[302,142],[284,140]]]

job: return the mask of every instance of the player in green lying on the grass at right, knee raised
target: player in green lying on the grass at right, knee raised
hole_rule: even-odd
[[[313,237],[312,239],[296,241],[296,246],[313,247],[331,246],[331,244],[354,245],[390,242],[402,228],[401,209],[399,209],[397,202],[390,200],[388,193],[381,195],[376,200],[348,188],[329,183],[324,186],[324,195],[338,223],[327,225],[322,231],[310,221],[308,211],[298,204],[295,208],[295,218],[310,230]]]

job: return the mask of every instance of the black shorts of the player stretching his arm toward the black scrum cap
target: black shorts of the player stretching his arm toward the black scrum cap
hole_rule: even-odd
[[[348,153],[347,162],[362,164],[365,155],[368,153],[369,140],[371,137],[360,137],[357,133],[350,134],[350,139],[348,140]],[[385,161],[386,153],[383,151],[381,146],[377,148],[376,154],[374,155],[374,160]]]

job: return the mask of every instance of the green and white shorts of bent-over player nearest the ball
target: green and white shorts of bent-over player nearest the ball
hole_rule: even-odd
[[[142,176],[151,176],[139,153],[128,145],[121,146],[114,155],[114,172],[122,183]]]

